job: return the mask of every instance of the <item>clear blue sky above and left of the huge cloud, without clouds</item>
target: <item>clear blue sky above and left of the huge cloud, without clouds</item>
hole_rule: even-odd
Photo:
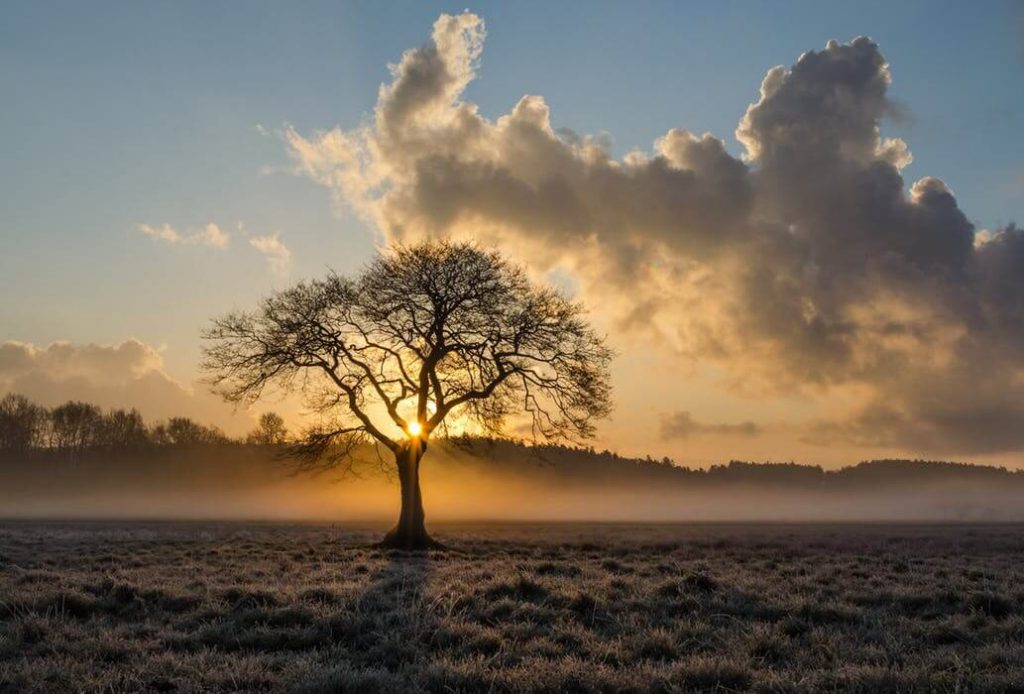
[[[364,262],[370,230],[288,172],[274,136],[357,126],[388,63],[442,12],[486,21],[466,97],[542,94],[616,155],[673,127],[733,136],[765,72],[828,39],[882,47],[907,180],[941,177],[980,227],[1024,208],[1024,3],[73,3],[0,8],[0,341],[166,347],[195,375],[207,319],[281,286],[241,236],[168,247],[142,223],[279,232],[290,279]],[[261,127],[260,127],[261,126]],[[269,131],[267,134],[266,131]]]

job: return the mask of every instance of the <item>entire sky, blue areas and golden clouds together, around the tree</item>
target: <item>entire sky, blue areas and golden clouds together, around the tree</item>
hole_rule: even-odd
[[[242,431],[212,316],[468,235],[607,333],[598,447],[1020,467],[1024,3],[0,16],[0,390]]]

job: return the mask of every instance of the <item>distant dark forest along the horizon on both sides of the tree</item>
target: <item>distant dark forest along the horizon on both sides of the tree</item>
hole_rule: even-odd
[[[230,437],[216,427],[185,417],[148,424],[136,409],[109,409],[80,401],[47,408],[17,394],[0,398],[0,458],[12,462],[27,457],[68,460],[95,459],[150,449],[271,446],[285,449],[291,436],[284,420],[264,413],[256,427],[242,437]],[[791,488],[849,488],[860,485],[912,483],[938,479],[972,479],[979,482],[1024,482],[1024,471],[1002,467],[924,460],[873,460],[839,470],[797,463],[730,461],[710,468],[687,468],[669,458],[625,458],[610,450],[524,441],[461,437],[439,441],[449,451],[468,453],[463,460],[486,459],[495,467],[537,468],[541,473],[565,478],[596,477],[655,483],[738,483]],[[142,459],[138,464],[144,465]],[[156,461],[157,458],[152,460]]]

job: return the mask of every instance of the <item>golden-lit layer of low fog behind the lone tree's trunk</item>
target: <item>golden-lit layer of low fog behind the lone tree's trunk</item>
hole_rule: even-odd
[[[1024,520],[1024,474],[877,462],[841,471],[730,464],[710,471],[564,448],[435,443],[422,471],[429,521]],[[390,464],[295,474],[270,446],[197,446],[77,460],[0,461],[0,516],[388,520]]]

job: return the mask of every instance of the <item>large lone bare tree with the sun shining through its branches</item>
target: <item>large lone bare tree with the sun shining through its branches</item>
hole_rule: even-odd
[[[401,510],[385,547],[436,546],[420,463],[438,430],[521,424],[535,440],[581,440],[610,410],[612,354],[582,306],[468,244],[392,248],[354,278],[302,283],[204,337],[204,367],[228,401],[267,387],[305,395],[322,422],[293,445],[300,464],[350,463],[362,443],[390,451]]]

